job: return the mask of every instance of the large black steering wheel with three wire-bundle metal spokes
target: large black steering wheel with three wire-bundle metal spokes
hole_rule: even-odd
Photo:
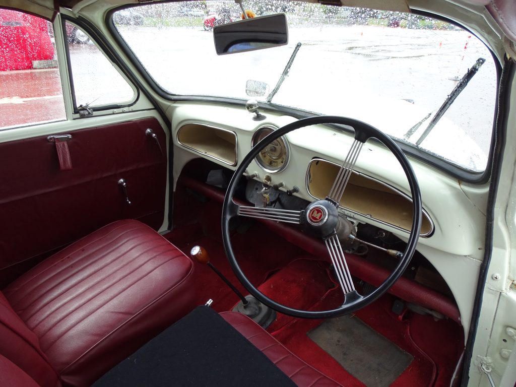
[[[244,174],[246,168],[262,149],[267,147],[268,144],[270,144],[273,140],[284,136],[289,132],[292,132],[301,127],[316,124],[341,124],[351,126],[355,133],[351,149],[349,150],[345,161],[336,176],[333,186],[325,199],[311,202],[303,211],[276,209],[270,207],[261,208],[243,206],[238,205],[233,201],[235,189],[240,177]],[[369,138],[376,138],[382,142],[385,147],[394,154],[399,164],[403,168],[405,175],[407,176],[410,192],[412,195],[413,218],[405,251],[401,254],[396,268],[373,293],[370,293],[366,296],[361,296],[354,288],[351,274],[346,264],[344,252],[335,233],[335,228],[337,227],[338,223],[338,203],[340,203],[362,146]],[[224,204],[222,207],[222,240],[225,253],[228,256],[231,268],[235,272],[238,280],[247,288],[249,293],[251,293],[263,304],[278,312],[294,317],[337,317],[355,312],[358,309],[363,308],[369,303],[375,301],[385,292],[387,292],[389,288],[392,287],[394,282],[396,282],[396,280],[402,275],[402,273],[409,265],[410,260],[412,259],[412,255],[414,255],[416,249],[417,239],[419,238],[421,232],[422,214],[423,209],[421,204],[421,191],[414,171],[412,170],[412,167],[410,166],[405,154],[399,149],[397,144],[389,136],[380,132],[373,126],[351,118],[338,116],[310,117],[285,125],[277,131],[270,133],[267,137],[257,143],[247,154],[244,160],[242,160],[240,166],[235,171],[229,184],[228,190],[225,194]],[[342,306],[328,311],[305,311],[286,307],[285,305],[280,304],[261,293],[247,279],[246,275],[238,265],[235,254],[233,252],[229,232],[229,222],[230,219],[235,216],[259,217],[273,221],[303,224],[304,228],[308,232],[322,238],[326,244],[331,262],[335,268],[335,274],[338,282],[345,295],[345,301]]]

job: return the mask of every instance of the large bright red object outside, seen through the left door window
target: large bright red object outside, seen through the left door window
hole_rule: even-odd
[[[0,10],[0,71],[32,69],[35,62],[53,57],[54,46],[46,20]]]

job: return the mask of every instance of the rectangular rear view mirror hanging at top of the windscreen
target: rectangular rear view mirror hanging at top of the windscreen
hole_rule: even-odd
[[[213,27],[217,55],[261,50],[288,43],[284,13],[240,20]]]

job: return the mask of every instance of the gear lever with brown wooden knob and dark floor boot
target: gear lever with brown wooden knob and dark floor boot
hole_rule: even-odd
[[[262,304],[256,298],[251,295],[244,297],[238,289],[222,275],[222,273],[209,262],[209,255],[207,251],[201,246],[193,246],[190,250],[190,256],[198,263],[208,265],[222,281],[224,281],[231,290],[240,298],[240,302],[233,308],[234,312],[245,314],[249,318],[252,318],[257,324],[266,329],[272,321],[276,319],[276,311]]]

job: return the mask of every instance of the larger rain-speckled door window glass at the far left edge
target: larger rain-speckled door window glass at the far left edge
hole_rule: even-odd
[[[0,130],[66,119],[52,25],[0,8]]]

